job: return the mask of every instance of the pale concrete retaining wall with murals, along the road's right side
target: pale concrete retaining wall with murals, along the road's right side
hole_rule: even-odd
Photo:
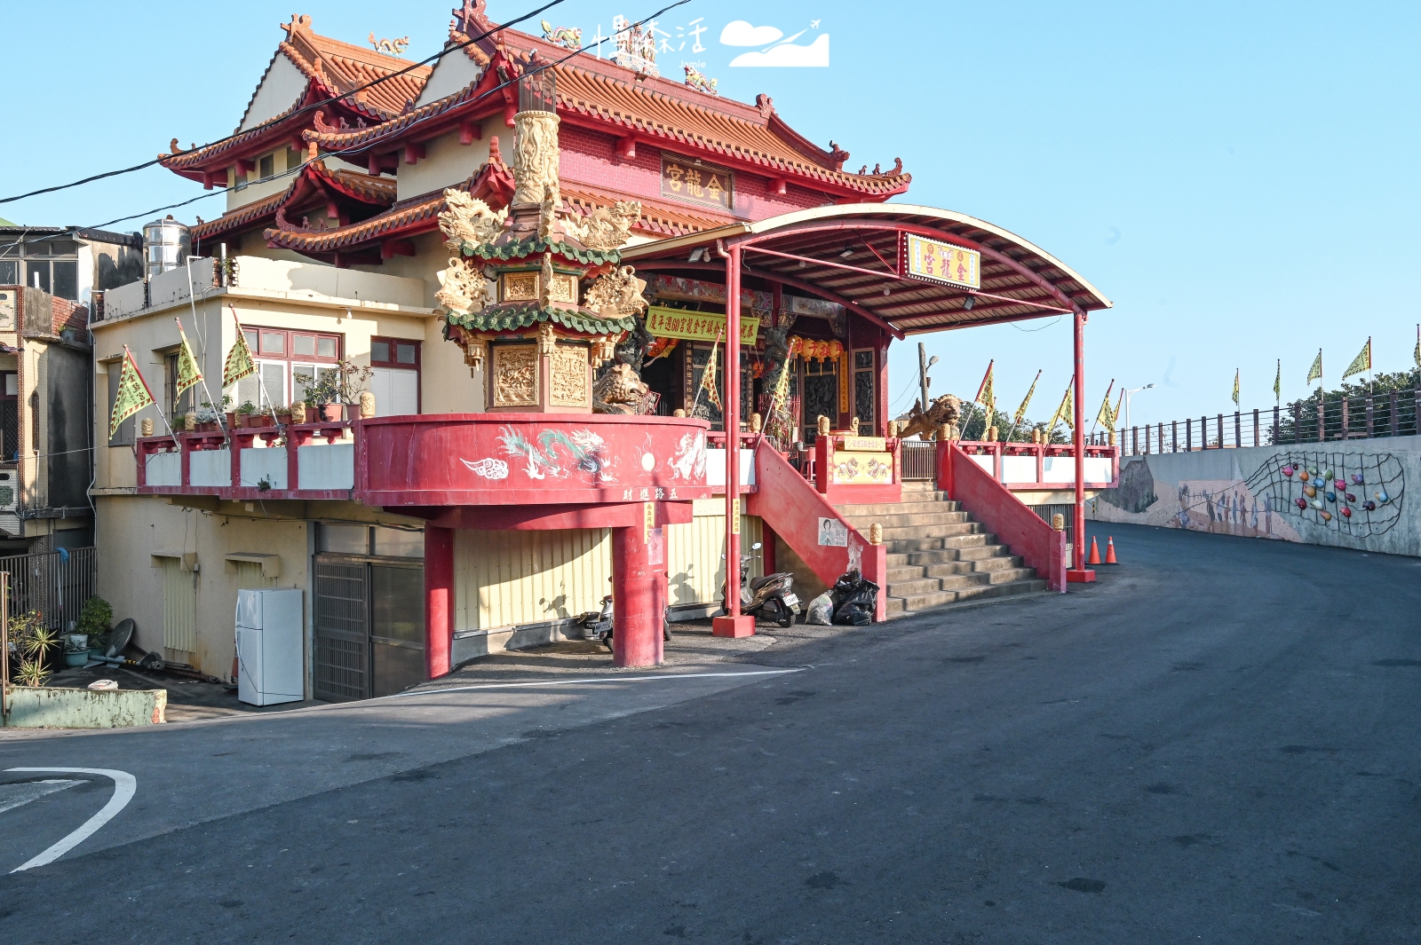
[[[1407,482],[1421,482],[1421,437],[1137,455],[1121,458],[1120,485],[1087,518],[1421,556]]]

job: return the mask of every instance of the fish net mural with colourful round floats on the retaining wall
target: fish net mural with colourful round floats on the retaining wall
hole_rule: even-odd
[[[1405,472],[1390,453],[1275,453],[1246,481],[1273,512],[1366,538],[1401,518]]]

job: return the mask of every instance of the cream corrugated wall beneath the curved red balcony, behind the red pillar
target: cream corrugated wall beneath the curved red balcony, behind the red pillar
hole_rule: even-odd
[[[745,515],[740,541],[762,541],[757,516]],[[725,582],[725,501],[695,504],[691,522],[666,526],[672,606],[715,604]],[[611,590],[608,529],[455,534],[455,631],[546,623],[600,610]],[[760,575],[756,559],[750,575]]]

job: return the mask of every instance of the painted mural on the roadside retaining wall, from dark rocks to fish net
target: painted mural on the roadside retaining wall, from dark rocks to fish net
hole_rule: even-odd
[[[1258,454],[1245,457],[1249,465],[1258,463],[1248,475],[1239,457],[1231,455],[1226,478],[1161,480],[1150,457],[1128,460],[1118,487],[1091,502],[1093,515],[1097,521],[1239,538],[1324,543],[1343,539],[1336,543],[1364,548],[1371,546],[1367,539],[1387,535],[1401,522],[1405,468],[1391,453],[1259,450]],[[1209,460],[1209,465],[1223,463],[1219,455]],[[1158,458],[1155,463],[1178,464]]]

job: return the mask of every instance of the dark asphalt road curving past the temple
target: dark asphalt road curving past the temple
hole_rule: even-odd
[[[1066,597],[715,667],[797,673],[7,739],[136,795],[0,941],[1421,939],[1421,560],[1111,534]],[[114,793],[37,778],[84,783],[6,863]]]

